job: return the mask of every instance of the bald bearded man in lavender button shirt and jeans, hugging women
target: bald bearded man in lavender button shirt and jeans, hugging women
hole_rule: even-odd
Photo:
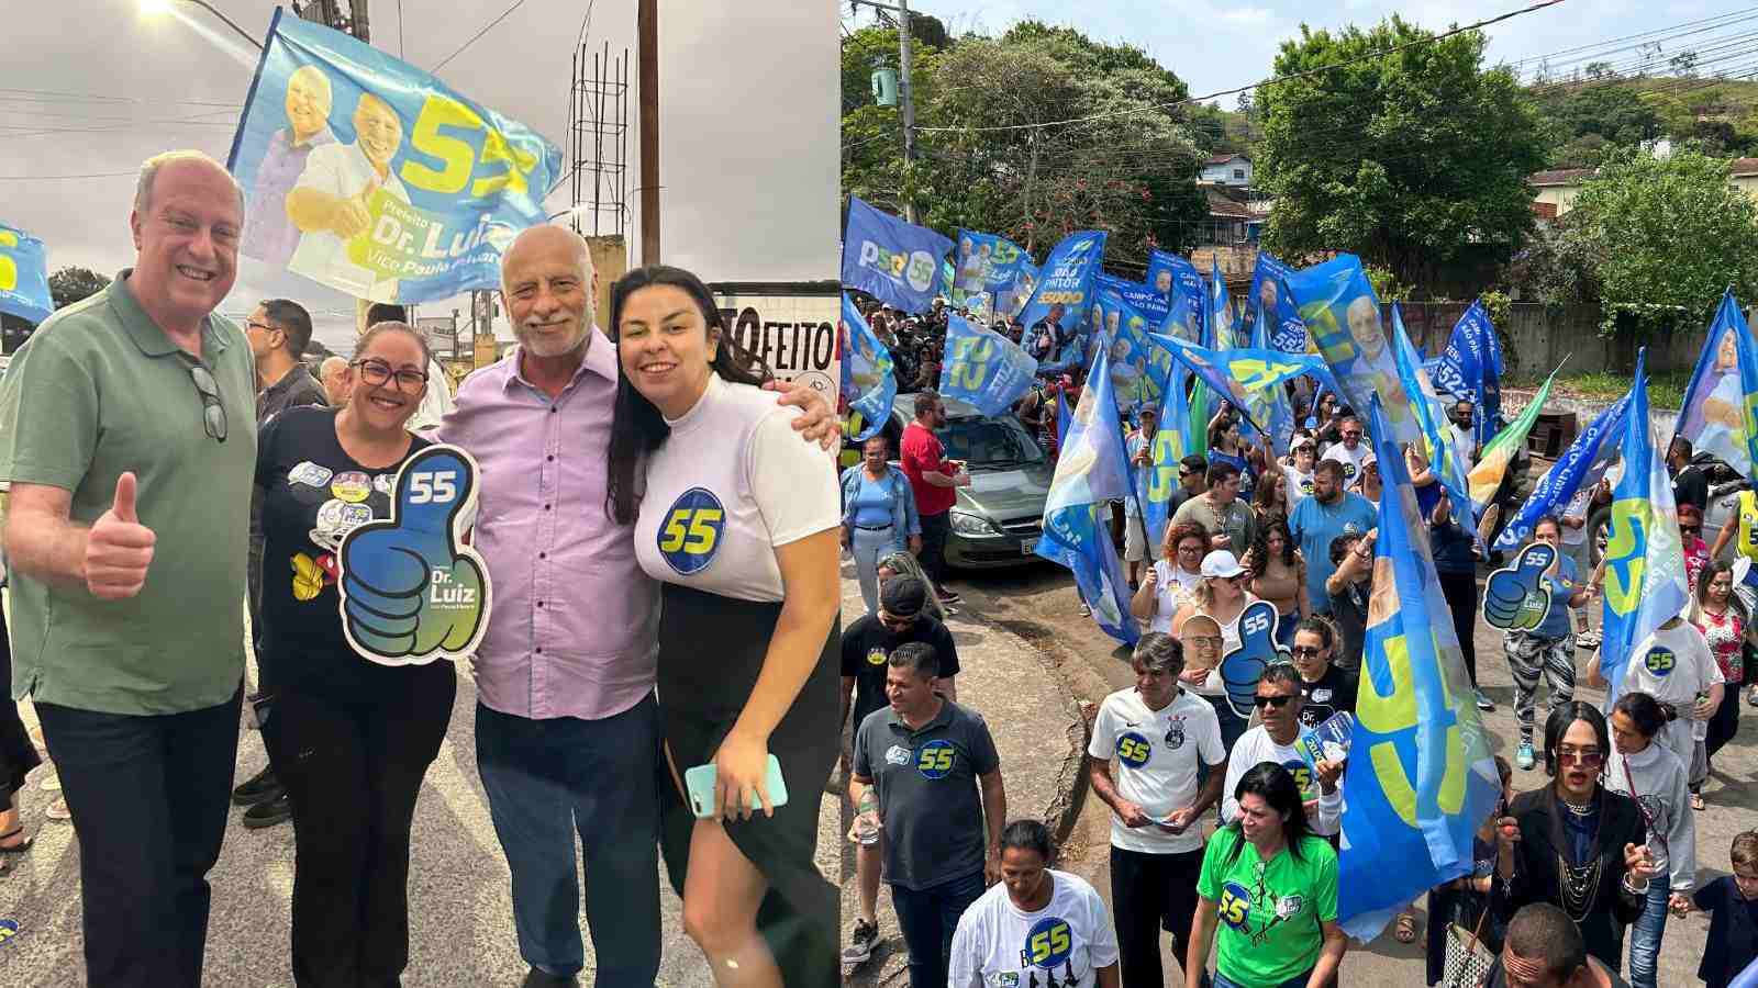
[[[534,227],[501,260],[519,346],[464,380],[438,438],[482,466],[475,547],[494,578],[476,650],[476,766],[513,872],[526,986],[578,984],[580,888],[599,988],[659,970],[657,584],[605,510],[617,350],[592,325],[585,241]],[[807,387],[795,427],[835,441]],[[816,403],[816,404],[810,404]],[[666,782],[668,784],[668,782]]]

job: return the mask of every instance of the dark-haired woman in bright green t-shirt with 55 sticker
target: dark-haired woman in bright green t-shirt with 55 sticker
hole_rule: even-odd
[[[1322,988],[1343,960],[1336,851],[1313,835],[1289,770],[1264,761],[1234,788],[1239,816],[1210,837],[1185,988],[1199,988],[1215,921],[1215,988]]]

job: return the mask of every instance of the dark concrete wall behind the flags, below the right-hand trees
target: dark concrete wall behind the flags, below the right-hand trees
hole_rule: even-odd
[[[1470,302],[1408,302],[1399,309],[1410,341],[1429,357],[1447,346],[1452,325]],[[1387,311],[1391,320],[1391,311]],[[1512,376],[1544,376],[1563,357],[1568,357],[1565,374],[1598,371],[1630,373],[1635,350],[1600,336],[1598,306],[1565,306],[1549,309],[1536,302],[1514,302],[1507,325],[1498,325],[1503,336],[1503,360]],[[1691,332],[1658,336],[1647,345],[1649,371],[1689,371],[1704,350],[1709,327]]]

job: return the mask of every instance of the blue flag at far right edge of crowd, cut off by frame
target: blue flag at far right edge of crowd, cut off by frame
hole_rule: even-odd
[[[1733,288],[1721,294],[1709,339],[1696,359],[1696,371],[1684,389],[1675,436],[1691,441],[1698,454],[1711,454],[1742,476],[1758,464],[1758,345],[1746,316],[1733,301]]]

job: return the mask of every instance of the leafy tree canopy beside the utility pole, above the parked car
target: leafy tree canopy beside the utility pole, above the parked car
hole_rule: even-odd
[[[909,199],[930,227],[1002,234],[1039,257],[1081,229],[1109,230],[1106,253],[1123,267],[1194,243],[1208,213],[1194,185],[1202,146],[1190,114],[1167,105],[1188,88],[1143,49],[1037,21],[916,47],[916,125],[956,130],[919,132],[909,169],[898,111],[867,97],[875,60],[895,65],[895,30],[842,39],[844,192],[893,211]],[[992,127],[1014,130],[977,130]]]

